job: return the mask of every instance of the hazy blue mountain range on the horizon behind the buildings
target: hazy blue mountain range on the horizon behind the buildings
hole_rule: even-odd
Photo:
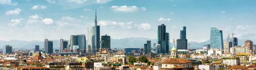
[[[129,38],[124,38],[124,39],[111,39],[111,48],[118,48],[118,49],[123,49],[123,48],[143,48],[144,43],[146,41],[150,40],[151,41],[151,48],[153,48],[153,44],[157,43],[157,39],[150,39],[150,38],[143,38],[143,37],[129,37]],[[54,50],[59,49],[59,40],[52,40]],[[69,40],[68,40],[69,41]],[[225,40],[224,40],[225,41]],[[246,39],[238,39],[238,45],[243,45],[244,41]],[[202,49],[203,45],[210,44],[210,40],[204,41],[204,42],[188,42],[193,45],[190,46],[190,48],[198,48]],[[87,44],[87,43],[86,43]],[[20,41],[20,40],[10,40],[10,41],[0,41],[0,46],[5,46],[5,45],[10,45],[13,46],[13,50],[33,50],[35,48],[35,45],[39,45],[40,49],[44,48],[44,41]],[[173,47],[172,40],[170,42],[170,48]],[[86,47],[87,48],[87,47]],[[189,48],[189,46],[188,46]],[[0,49],[3,50],[3,47],[0,47]]]

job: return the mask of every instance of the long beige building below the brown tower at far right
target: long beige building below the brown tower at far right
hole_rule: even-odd
[[[230,53],[251,53],[251,50],[245,46],[234,46],[230,48]]]

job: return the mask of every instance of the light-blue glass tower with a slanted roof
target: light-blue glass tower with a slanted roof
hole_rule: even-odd
[[[222,30],[218,29],[217,27],[214,27],[213,25],[211,27],[211,34],[210,34],[210,47],[223,49]]]

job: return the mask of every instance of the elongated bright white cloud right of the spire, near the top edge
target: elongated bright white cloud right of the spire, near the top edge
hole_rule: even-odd
[[[111,8],[115,12],[135,12],[137,10],[143,10],[143,11],[146,10],[145,7],[141,7],[141,9],[139,9],[136,6],[126,6],[126,5],[124,5],[124,6],[112,6]]]

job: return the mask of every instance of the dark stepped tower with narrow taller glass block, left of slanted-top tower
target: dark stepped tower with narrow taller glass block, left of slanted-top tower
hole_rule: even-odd
[[[180,39],[177,39],[177,49],[187,49],[186,27],[180,31]]]

